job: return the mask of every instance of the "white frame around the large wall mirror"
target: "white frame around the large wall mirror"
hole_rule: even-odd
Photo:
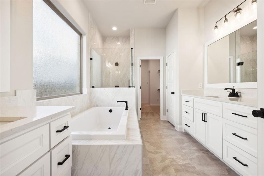
[[[253,14],[252,16],[249,16],[243,20],[241,20],[237,25],[235,26],[229,26],[229,29],[227,29],[225,32],[222,32],[221,34],[217,35],[213,40],[205,43],[204,47],[204,73],[205,73],[205,88],[229,88],[232,86],[235,86],[235,88],[257,88],[257,82],[239,82],[239,83],[218,83],[218,84],[208,84],[208,58],[207,58],[207,48],[208,45],[216,42],[217,40],[220,40],[221,38],[233,33],[234,31],[246,26],[247,24],[255,21],[257,19],[257,14]]]

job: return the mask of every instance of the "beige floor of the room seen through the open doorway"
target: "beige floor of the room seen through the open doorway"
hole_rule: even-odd
[[[160,106],[141,104],[141,119],[160,119]]]

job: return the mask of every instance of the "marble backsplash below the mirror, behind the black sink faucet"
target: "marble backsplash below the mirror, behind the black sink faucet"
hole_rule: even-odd
[[[226,88],[233,88],[233,87],[226,87]],[[257,99],[257,89],[245,89],[245,88],[236,88],[235,90],[239,93],[239,96],[242,98],[251,98],[251,99]],[[230,90],[228,90],[230,91]],[[229,92],[227,90],[224,90],[224,88],[205,88],[203,90],[204,95],[217,95],[221,97],[228,97]]]

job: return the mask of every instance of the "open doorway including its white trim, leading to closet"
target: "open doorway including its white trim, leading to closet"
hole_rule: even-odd
[[[163,57],[138,57],[138,115],[163,117]]]

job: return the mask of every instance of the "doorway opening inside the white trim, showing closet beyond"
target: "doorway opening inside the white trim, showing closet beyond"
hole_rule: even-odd
[[[159,60],[141,60],[141,119],[160,119]]]

